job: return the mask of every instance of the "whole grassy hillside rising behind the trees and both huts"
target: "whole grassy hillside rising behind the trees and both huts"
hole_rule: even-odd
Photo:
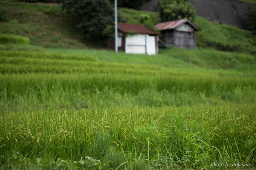
[[[23,35],[30,39],[31,45],[47,48],[85,47],[83,43],[86,41],[79,34],[79,30],[70,26],[61,17],[60,6],[0,3],[0,11],[5,11],[6,18],[9,20],[0,23],[0,33]],[[119,8],[118,13],[122,20],[128,23],[138,23],[140,14],[145,13],[151,16],[154,24],[160,22],[157,13],[126,8]],[[256,54],[256,37],[250,31],[211,23],[201,17],[196,17],[195,23],[202,30],[196,33],[197,46],[212,47],[220,51]]]

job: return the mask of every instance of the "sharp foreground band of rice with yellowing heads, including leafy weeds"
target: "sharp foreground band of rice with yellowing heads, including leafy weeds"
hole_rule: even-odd
[[[186,117],[186,121],[179,122],[179,119],[173,119],[178,115]],[[232,120],[238,116],[240,116],[239,119]],[[95,132],[97,133],[96,129],[99,131],[104,128],[105,132],[110,131],[110,134],[116,132],[116,135],[111,135],[111,143],[107,147],[109,149],[105,150],[105,156],[114,148],[116,151],[123,150],[124,154],[122,155],[125,157],[120,164],[128,161],[129,164],[123,164],[128,167],[139,167],[137,165],[145,167],[151,164],[153,166],[153,162],[160,163],[162,167],[184,167],[183,161],[188,167],[197,165],[205,167],[207,161],[208,163],[211,160],[219,162],[226,157],[226,161],[238,161],[241,158],[243,162],[248,162],[250,159],[253,160],[250,155],[254,150],[247,148],[243,141],[244,139],[248,139],[248,141],[255,139],[256,126],[253,118],[255,118],[254,105],[243,104],[231,104],[225,107],[199,105],[5,111],[0,115],[0,153],[1,155],[12,155],[13,151],[19,151],[23,155],[27,154],[28,158],[42,157],[47,160],[55,160],[56,156],[63,160],[77,161],[82,156],[91,155],[88,149],[97,149],[99,144],[95,141]],[[180,125],[178,128],[174,120],[178,121],[178,125]],[[155,125],[148,124],[148,122],[154,121]],[[196,122],[206,123],[196,124]],[[186,126],[184,127],[184,125]],[[141,132],[135,133],[134,127],[138,127],[138,129],[145,127],[144,130],[147,132],[142,133],[142,138],[139,138]],[[207,130],[204,129],[207,128],[212,132],[210,137],[204,136],[207,134]],[[166,130],[169,132],[161,137]],[[140,152],[140,143],[132,133],[138,139],[143,140],[145,145],[142,148],[143,152]],[[106,133],[100,133],[101,136],[102,134]],[[150,134],[154,134],[154,136],[150,136]],[[209,138],[212,139],[209,141]],[[191,143],[189,139],[192,141]],[[90,142],[94,142],[95,145],[91,145]],[[241,157],[238,157],[235,143],[237,143]],[[171,145],[173,148],[170,147]],[[209,145],[215,147],[211,147],[212,152],[215,153],[211,156],[212,152],[207,149]],[[98,149],[96,152],[102,152]],[[103,155],[103,153],[96,155],[97,159],[104,160]],[[90,157],[95,158],[96,156],[92,154]],[[167,157],[164,158],[164,156]],[[207,156],[209,157],[205,160],[204,158]],[[142,160],[146,161],[141,162]],[[155,161],[151,162],[150,160]],[[2,164],[6,163],[6,160],[2,159],[1,161]],[[168,166],[164,164],[165,161],[169,162]],[[191,161],[198,164],[193,165]],[[177,166],[174,166],[174,163]],[[117,167],[116,165],[115,168]]]

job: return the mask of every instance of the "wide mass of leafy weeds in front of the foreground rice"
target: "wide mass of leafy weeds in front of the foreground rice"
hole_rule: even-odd
[[[135,127],[131,134],[136,150],[150,159],[149,169],[180,169],[206,165],[212,152],[211,133],[206,126],[193,121],[188,124],[184,117],[175,117],[168,130],[160,130],[154,122],[151,126]]]

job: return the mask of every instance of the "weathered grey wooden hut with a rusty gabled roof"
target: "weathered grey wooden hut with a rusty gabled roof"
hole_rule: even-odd
[[[200,28],[189,19],[162,22],[155,27],[161,30],[162,34],[159,37],[159,44],[179,48],[196,48],[195,31],[200,31]]]

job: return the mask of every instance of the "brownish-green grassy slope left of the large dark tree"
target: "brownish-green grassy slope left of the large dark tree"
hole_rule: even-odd
[[[61,19],[60,6],[0,2],[0,11],[4,11],[9,20],[0,23],[1,33],[26,36],[31,45],[42,47],[84,47]]]

